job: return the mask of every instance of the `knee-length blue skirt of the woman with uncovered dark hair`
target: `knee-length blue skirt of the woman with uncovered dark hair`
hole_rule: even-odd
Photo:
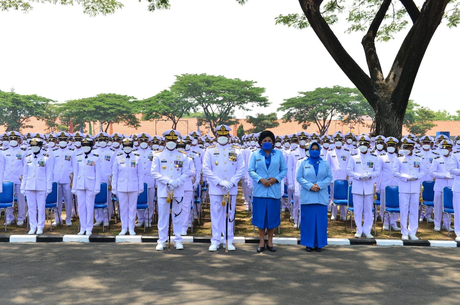
[[[253,225],[273,229],[281,223],[281,199],[253,197]]]

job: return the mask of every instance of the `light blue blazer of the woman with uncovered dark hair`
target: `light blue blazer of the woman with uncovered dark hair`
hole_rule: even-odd
[[[288,174],[288,166],[281,150],[272,149],[270,166],[267,169],[265,164],[265,152],[259,153],[259,150],[253,152],[249,166],[247,169],[248,175],[253,179],[253,197],[281,198],[281,181]],[[265,187],[260,179],[275,177],[277,183],[272,186]]]

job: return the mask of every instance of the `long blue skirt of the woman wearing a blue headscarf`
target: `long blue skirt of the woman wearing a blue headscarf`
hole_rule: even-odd
[[[324,204],[300,205],[300,244],[322,248],[328,244],[328,206]]]

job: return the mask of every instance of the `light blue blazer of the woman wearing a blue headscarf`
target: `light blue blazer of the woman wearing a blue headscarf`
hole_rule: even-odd
[[[329,162],[320,160],[318,175],[315,174],[315,169],[308,159],[303,160],[297,169],[296,179],[299,182],[300,188],[300,204],[319,203],[328,205],[329,192],[328,185],[332,182],[332,171]],[[319,192],[310,191],[313,184],[317,184],[320,188]]]

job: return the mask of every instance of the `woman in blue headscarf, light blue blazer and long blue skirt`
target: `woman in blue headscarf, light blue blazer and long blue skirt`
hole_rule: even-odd
[[[312,142],[310,157],[300,162],[296,179],[300,188],[300,244],[307,252],[320,252],[328,244],[328,185],[332,182],[329,163],[319,155],[321,146]]]

